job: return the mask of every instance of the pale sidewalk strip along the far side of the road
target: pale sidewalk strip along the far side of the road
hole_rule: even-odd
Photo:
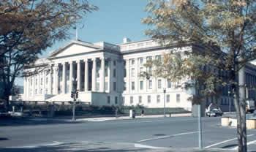
[[[177,113],[172,114],[171,117],[189,117],[191,116],[191,113]],[[144,119],[144,118],[163,118],[164,115],[136,115],[136,118]],[[166,115],[166,117],[170,117],[169,115]],[[115,120],[127,120],[127,119],[133,119],[129,116],[121,116],[121,117],[101,117],[101,118],[78,118],[76,121],[115,121]]]

